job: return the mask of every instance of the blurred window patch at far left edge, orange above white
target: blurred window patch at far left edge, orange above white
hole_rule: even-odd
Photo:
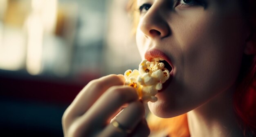
[[[26,44],[23,22],[28,0],[0,0],[0,68],[20,70],[25,66]]]

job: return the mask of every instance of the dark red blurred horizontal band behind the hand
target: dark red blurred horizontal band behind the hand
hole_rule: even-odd
[[[83,75],[83,82],[76,83],[56,78],[28,77],[0,75],[0,96],[54,104],[70,104],[79,91],[90,80],[96,78],[92,75]]]

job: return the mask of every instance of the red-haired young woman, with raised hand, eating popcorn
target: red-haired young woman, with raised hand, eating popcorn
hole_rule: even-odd
[[[162,118],[186,113],[186,137],[256,136],[254,0],[133,0],[142,59],[171,78],[148,102]],[[115,118],[110,120],[126,108]],[[65,137],[147,137],[144,105],[123,75],[92,80],[63,115]],[[177,123],[168,123],[175,125]],[[178,130],[178,129],[177,129]]]

